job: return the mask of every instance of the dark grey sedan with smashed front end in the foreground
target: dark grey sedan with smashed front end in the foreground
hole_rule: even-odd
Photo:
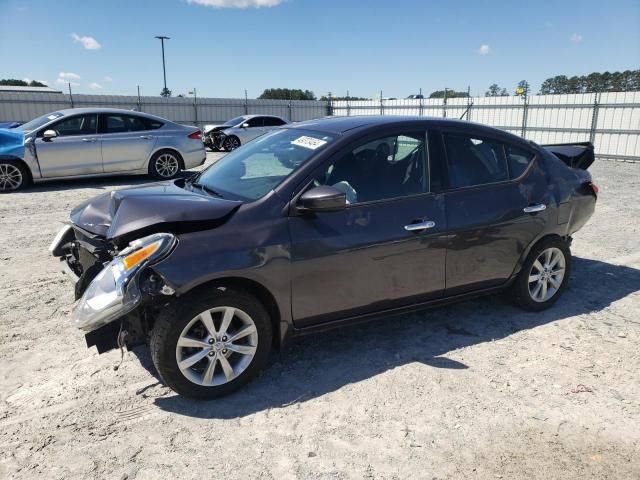
[[[454,120],[303,122],[191,180],[89,200],[51,251],[88,346],[148,343],[167,385],[218,397],[303,333],[500,290],[551,306],[593,159]]]

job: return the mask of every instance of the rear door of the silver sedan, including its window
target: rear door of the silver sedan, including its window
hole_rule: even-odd
[[[157,132],[147,129],[146,119],[137,115],[101,113],[98,132],[105,173],[146,168],[157,142]]]

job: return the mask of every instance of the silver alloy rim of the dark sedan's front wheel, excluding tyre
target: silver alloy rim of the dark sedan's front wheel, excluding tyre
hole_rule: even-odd
[[[176,345],[178,368],[189,381],[205,386],[231,382],[249,366],[258,347],[253,319],[234,307],[216,307],[193,318]]]

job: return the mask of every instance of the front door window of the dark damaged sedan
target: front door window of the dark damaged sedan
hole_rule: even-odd
[[[331,164],[316,185],[331,185],[347,202],[363,203],[429,191],[425,132],[380,138]]]

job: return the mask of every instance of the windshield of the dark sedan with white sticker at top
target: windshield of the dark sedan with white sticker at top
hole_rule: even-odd
[[[257,200],[333,139],[323,132],[275,130],[211,165],[197,183],[223,198]]]

